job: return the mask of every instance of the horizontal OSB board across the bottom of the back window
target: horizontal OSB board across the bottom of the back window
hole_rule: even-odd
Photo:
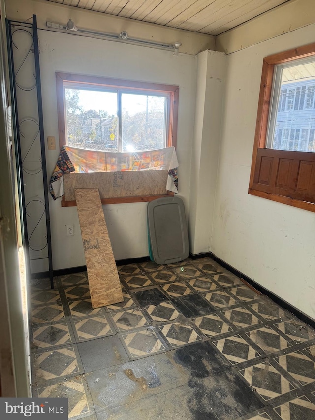
[[[164,171],[126,171],[64,174],[64,199],[75,200],[76,188],[98,188],[101,198],[163,195],[167,182]]]

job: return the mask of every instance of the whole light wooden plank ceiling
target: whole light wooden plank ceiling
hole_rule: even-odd
[[[172,28],[219,35],[292,0],[47,0]],[[293,0],[294,1],[294,0]]]

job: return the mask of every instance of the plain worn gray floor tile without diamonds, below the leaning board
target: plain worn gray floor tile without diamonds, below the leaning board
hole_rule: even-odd
[[[78,344],[78,349],[86,373],[129,361],[117,336],[85,341]]]

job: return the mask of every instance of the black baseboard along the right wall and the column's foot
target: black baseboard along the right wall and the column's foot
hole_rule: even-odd
[[[242,273],[241,271],[239,271],[236,268],[229,265],[227,262],[223,261],[221,258],[216,257],[213,253],[201,253],[201,254],[196,254],[196,255],[189,255],[189,257],[192,258],[192,259],[202,258],[202,257],[211,257],[214,261],[218,262],[218,264],[222,265],[222,267],[226,268],[228,271],[231,271],[231,273],[235,274],[235,276],[239,277],[240,279],[245,280],[245,282],[248,283],[250,286],[252,286],[254,289],[256,289],[260,293],[268,296],[271,300],[273,300],[275,303],[277,303],[282,308],[291,312],[291,314],[295,315],[301,321],[307,323],[312,328],[315,328],[315,320],[313,318],[309,317],[304,312],[297,309],[295,306],[286,302],[284,299],[282,299],[281,297],[279,297],[278,295],[276,295],[272,291],[264,288],[259,283],[255,282],[250,277],[248,277],[246,274]]]

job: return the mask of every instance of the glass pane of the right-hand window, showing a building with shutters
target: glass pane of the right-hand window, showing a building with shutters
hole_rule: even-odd
[[[279,65],[281,71],[271,110],[269,147],[312,152],[315,150],[315,60],[294,66]],[[276,78],[276,84],[277,84]]]

